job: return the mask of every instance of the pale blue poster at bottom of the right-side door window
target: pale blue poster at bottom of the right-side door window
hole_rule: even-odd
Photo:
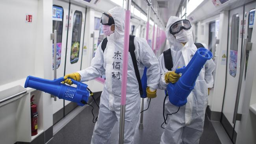
[[[230,50],[229,74],[233,77],[236,77],[236,68],[237,68],[237,51]]]

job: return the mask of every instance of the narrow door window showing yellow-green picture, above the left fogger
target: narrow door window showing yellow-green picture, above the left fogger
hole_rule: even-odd
[[[80,38],[82,28],[82,12],[75,11],[73,20],[72,42],[71,42],[71,54],[70,63],[74,64],[79,59]]]

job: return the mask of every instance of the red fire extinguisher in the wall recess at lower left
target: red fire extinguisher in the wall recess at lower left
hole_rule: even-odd
[[[30,98],[30,109],[31,109],[31,135],[37,135],[37,105],[33,103],[33,97]]]

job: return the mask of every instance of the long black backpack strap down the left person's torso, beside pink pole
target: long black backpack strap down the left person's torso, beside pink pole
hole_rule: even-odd
[[[132,63],[134,65],[135,75],[136,75],[137,81],[139,83],[139,93],[142,95],[143,94],[143,89],[142,89],[142,84],[141,84],[141,77],[139,76],[139,68],[138,68],[138,65],[137,65],[137,59],[136,59],[136,55],[135,55],[134,37],[135,37],[134,35],[130,35],[129,52],[130,52],[131,57],[132,57]]]

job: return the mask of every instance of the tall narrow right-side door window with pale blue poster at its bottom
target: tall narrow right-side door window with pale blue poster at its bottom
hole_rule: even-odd
[[[229,59],[229,74],[236,77],[237,69],[237,48],[239,38],[239,15],[234,14],[231,21],[231,41],[230,41],[230,59]]]

